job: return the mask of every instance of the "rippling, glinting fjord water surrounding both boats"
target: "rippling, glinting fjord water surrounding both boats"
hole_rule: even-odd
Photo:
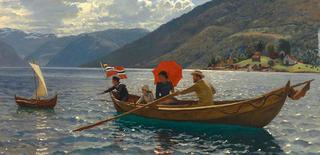
[[[72,133],[85,125],[116,115],[108,96],[97,96],[110,81],[99,69],[45,68],[49,93],[59,94],[54,110],[19,108],[14,95],[31,96],[29,68],[0,69],[0,154],[212,154],[320,153],[320,75],[206,71],[217,88],[217,100],[244,99],[274,88],[316,79],[299,101],[288,99],[280,114],[264,129],[226,125],[176,123],[129,116],[92,130]],[[178,89],[189,86],[190,71]],[[129,70],[131,93],[153,86],[151,70]],[[184,96],[183,98],[193,98]]]

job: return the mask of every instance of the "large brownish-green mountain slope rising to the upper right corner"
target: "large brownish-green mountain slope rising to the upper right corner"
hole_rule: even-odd
[[[84,66],[103,61],[152,67],[169,59],[206,67],[211,57],[280,39],[288,40],[293,51],[316,49],[319,5],[319,0],[212,0]]]

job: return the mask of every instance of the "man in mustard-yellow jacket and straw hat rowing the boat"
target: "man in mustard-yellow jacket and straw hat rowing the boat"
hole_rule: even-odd
[[[189,94],[195,92],[199,99],[198,104],[199,106],[207,106],[213,104],[213,95],[216,93],[216,90],[211,84],[208,84],[203,80],[204,75],[201,71],[196,70],[191,73],[193,78],[194,85],[183,90],[178,91],[178,95]]]

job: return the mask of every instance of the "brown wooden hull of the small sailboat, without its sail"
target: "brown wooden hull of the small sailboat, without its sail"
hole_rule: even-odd
[[[30,108],[54,108],[57,105],[58,95],[55,95],[51,99],[27,99],[23,97],[15,96],[15,100],[20,107],[30,107]]]

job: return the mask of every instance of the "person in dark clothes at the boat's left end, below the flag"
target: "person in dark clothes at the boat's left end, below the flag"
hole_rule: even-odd
[[[106,91],[104,91],[104,92],[102,92],[100,94],[109,93],[109,92],[115,90],[115,92],[119,96],[118,99],[120,101],[128,101],[128,99],[129,99],[128,89],[127,89],[127,86],[125,84],[120,83],[120,77],[113,76],[112,77],[112,84],[113,84],[113,86],[111,88],[107,89]]]

